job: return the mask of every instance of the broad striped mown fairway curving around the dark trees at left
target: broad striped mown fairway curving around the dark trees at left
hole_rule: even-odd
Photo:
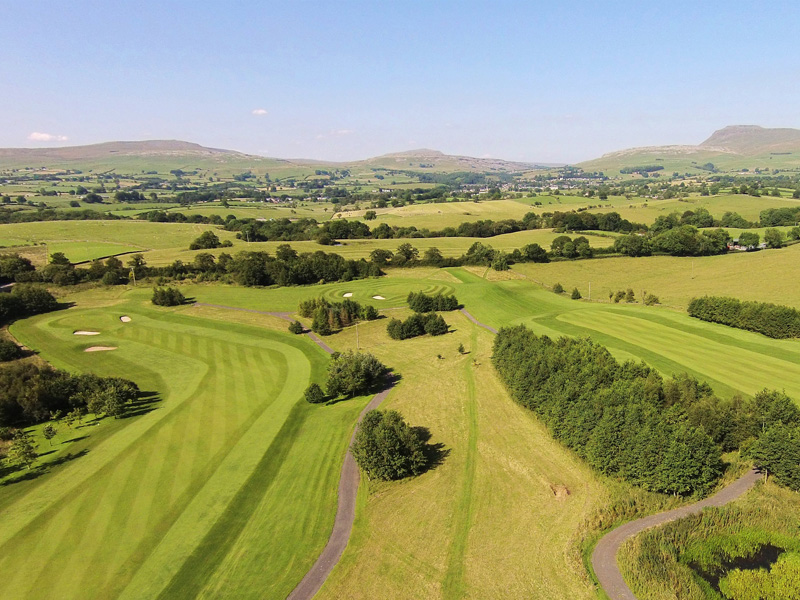
[[[364,399],[307,405],[302,391],[325,364],[313,344],[192,310],[79,300],[14,326],[54,364],[129,377],[162,401],[85,427],[99,440],[85,456],[0,490],[4,599],[267,597],[260,590],[288,593],[315,560]],[[118,350],[84,353],[76,329]]]

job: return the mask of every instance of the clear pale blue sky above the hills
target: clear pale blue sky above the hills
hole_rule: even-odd
[[[731,124],[800,128],[795,2],[3,7],[0,146],[574,162]]]

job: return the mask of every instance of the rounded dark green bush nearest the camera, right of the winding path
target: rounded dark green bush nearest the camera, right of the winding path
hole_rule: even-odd
[[[371,410],[353,442],[353,458],[371,479],[395,480],[421,473],[425,443],[397,411]]]

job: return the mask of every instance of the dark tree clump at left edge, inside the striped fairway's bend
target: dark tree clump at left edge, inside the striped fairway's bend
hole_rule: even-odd
[[[0,369],[0,427],[33,425],[75,410],[120,416],[138,393],[135,383],[118,377],[12,364]]]

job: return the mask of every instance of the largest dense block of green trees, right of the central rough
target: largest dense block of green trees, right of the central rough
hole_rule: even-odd
[[[492,362],[512,397],[595,469],[658,492],[707,492],[721,453],[793,406],[775,392],[722,400],[688,376],[665,381],[591,340],[553,341],[523,326],[500,331]]]

